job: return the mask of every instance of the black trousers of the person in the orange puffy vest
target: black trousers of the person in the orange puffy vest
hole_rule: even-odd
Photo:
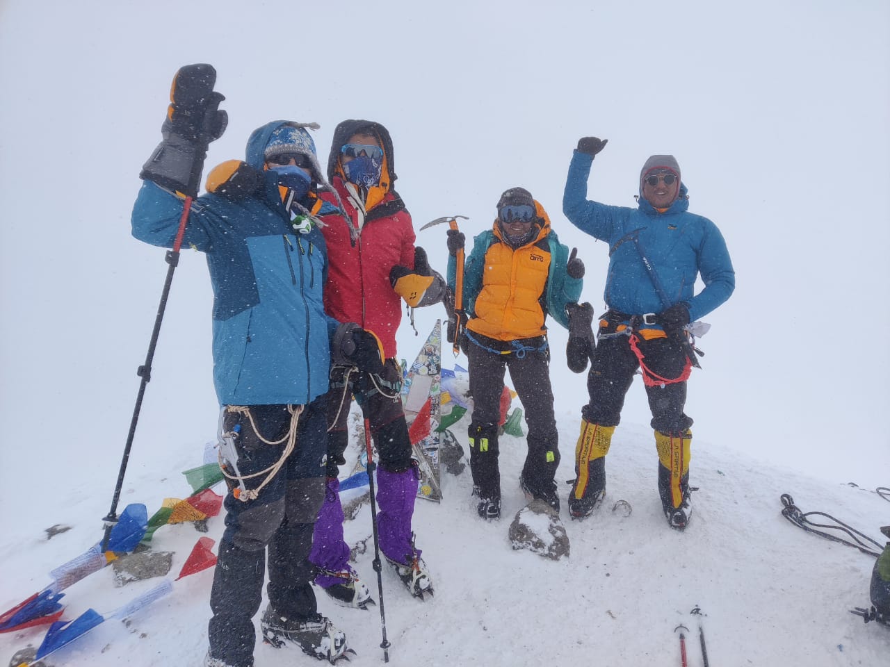
[[[472,336],[475,342],[472,339],[469,342],[467,357],[470,361],[470,394],[473,396],[473,419],[469,428],[469,436],[474,441],[470,447],[473,486],[482,498],[500,498],[498,425],[504,376],[509,368],[510,379],[522,401],[525,422],[529,426],[526,440],[529,451],[522,466],[522,478],[535,497],[552,494],[560,454],[554,393],[550,384],[550,359],[548,350],[540,349],[546,338],[522,341],[531,350],[499,354],[499,350],[511,349],[509,343],[478,333],[472,333]],[[481,446],[483,438],[487,446]]]

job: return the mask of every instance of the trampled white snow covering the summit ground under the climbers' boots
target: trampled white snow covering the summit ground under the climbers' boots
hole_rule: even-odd
[[[571,475],[577,417],[559,414],[564,454],[559,478]],[[466,418],[465,418],[466,419]],[[465,445],[464,422],[454,428]],[[181,449],[177,460],[158,461],[128,479],[125,502],[145,502],[153,511],[163,496],[189,494],[178,470],[196,464],[200,444]],[[441,504],[418,501],[418,545],[433,569],[436,595],[410,599],[384,571],[384,603],[393,665],[671,665],[679,664],[677,624],[689,629],[690,664],[700,663],[697,621],[700,606],[714,665],[881,665],[890,655],[890,632],[864,625],[847,613],[868,604],[873,559],[841,544],[805,534],[781,517],[780,495],[794,496],[804,511],[822,510],[882,541],[878,526],[890,523],[890,503],[878,494],[830,485],[789,470],[766,469],[740,454],[703,440],[693,444],[695,516],[684,533],[667,527],[655,490],[656,456],[651,431],[622,425],[608,458],[605,506],[583,522],[570,521],[562,491],[562,519],[570,558],[553,562],[514,551],[506,531],[524,497],[514,480],[524,442],[504,437],[501,454],[504,518],[485,522],[470,500],[469,470],[445,475]],[[20,526],[17,540],[4,540],[4,590],[8,608],[41,589],[53,567],[98,540],[96,521],[104,500],[85,498],[72,486],[58,496],[60,523],[73,529],[47,541],[49,526]],[[626,516],[612,505],[625,500]],[[367,505],[351,522],[352,542],[370,534]],[[223,518],[211,519],[218,539]],[[190,525],[163,526],[153,548],[175,550],[174,572],[198,533]],[[376,598],[370,553],[356,564]],[[12,576],[11,576],[12,575]],[[110,568],[67,592],[69,615],[93,607],[119,607],[150,582],[116,589]],[[77,667],[111,665],[198,665],[206,650],[207,597],[212,570],[175,584],[174,594],[135,615],[128,626],[103,623],[58,658]],[[358,655],[353,664],[381,663],[379,607],[360,611],[320,598],[320,608],[347,632]],[[0,635],[0,662],[15,650],[37,644],[43,631]],[[882,657],[883,656],[883,657]],[[260,644],[257,667],[314,664],[302,654]]]

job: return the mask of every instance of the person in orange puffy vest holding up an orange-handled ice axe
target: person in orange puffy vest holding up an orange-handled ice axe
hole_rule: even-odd
[[[465,237],[449,230],[449,285],[455,289],[457,251]],[[554,476],[559,466],[546,317],[568,328],[566,305],[578,301],[584,263],[550,229],[546,211],[528,190],[511,188],[498,201],[492,229],[473,239],[465,263],[465,341],[470,361],[470,470],[482,518],[500,517],[499,398],[510,369],[525,407],[529,453],[520,486],[559,512]]]

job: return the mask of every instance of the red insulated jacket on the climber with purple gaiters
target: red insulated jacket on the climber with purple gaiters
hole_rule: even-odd
[[[340,195],[346,213],[358,226],[356,210],[344,181],[335,175],[331,184]],[[337,205],[329,192],[321,198]],[[401,298],[392,289],[390,271],[401,265],[414,269],[414,228],[411,214],[392,190],[365,216],[359,239],[353,246],[349,225],[339,213],[321,216],[328,244],[328,286],[325,310],[341,322],[357,322],[376,333],[387,358],[396,356],[395,332],[401,323]]]

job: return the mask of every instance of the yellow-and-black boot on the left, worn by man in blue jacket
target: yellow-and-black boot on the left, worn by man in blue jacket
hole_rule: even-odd
[[[569,513],[573,518],[589,517],[606,494],[606,454],[614,432],[614,426],[581,419],[581,433],[575,445],[577,477],[569,494]]]

